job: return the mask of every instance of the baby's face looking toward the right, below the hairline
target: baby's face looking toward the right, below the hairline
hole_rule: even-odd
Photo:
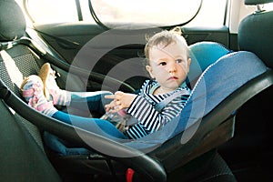
[[[180,41],[167,46],[157,45],[150,50],[147,71],[160,86],[171,91],[185,81],[190,61],[187,57],[187,46]]]

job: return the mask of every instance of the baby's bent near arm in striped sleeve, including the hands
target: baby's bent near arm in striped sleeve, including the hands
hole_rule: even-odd
[[[118,112],[127,108],[128,114],[134,116],[142,126],[148,131],[157,131],[162,125],[165,125],[185,106],[187,96],[183,99],[177,98],[166,106],[162,113],[159,113],[155,106],[147,101],[143,96],[116,92],[115,95],[106,96],[114,99],[109,105],[106,105],[106,112]]]

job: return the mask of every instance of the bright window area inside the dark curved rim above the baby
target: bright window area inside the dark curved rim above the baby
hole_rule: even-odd
[[[179,25],[197,14],[201,0],[92,0],[94,12],[106,26]]]

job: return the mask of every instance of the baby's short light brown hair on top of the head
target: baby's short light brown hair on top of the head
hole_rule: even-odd
[[[151,47],[155,45],[163,44],[164,46],[167,46],[179,40],[179,41],[182,41],[183,44],[187,46],[187,42],[185,38],[182,36],[182,31],[179,26],[176,26],[169,31],[163,30],[162,32],[159,32],[153,35],[152,37],[146,36],[146,39],[147,39],[147,44],[144,48],[144,54],[146,56],[146,65],[148,65],[148,62],[149,62],[150,49]]]

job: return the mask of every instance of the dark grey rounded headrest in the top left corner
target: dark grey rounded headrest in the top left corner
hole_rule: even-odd
[[[14,0],[0,1],[0,41],[12,41],[25,35],[25,16]]]

